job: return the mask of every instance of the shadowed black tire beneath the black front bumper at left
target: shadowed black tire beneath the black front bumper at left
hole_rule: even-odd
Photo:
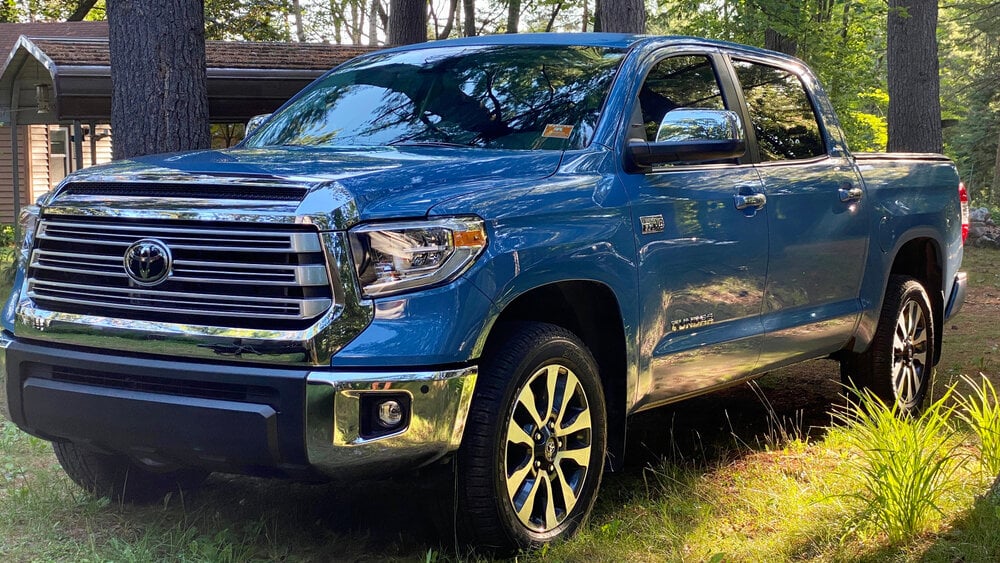
[[[194,468],[150,471],[124,456],[95,452],[72,442],[53,442],[52,449],[77,485],[116,502],[153,502],[172,491],[196,488],[209,474]]]

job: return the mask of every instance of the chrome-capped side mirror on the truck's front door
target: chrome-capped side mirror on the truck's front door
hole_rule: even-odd
[[[728,110],[675,109],[663,116],[656,141],[628,142],[633,171],[644,171],[656,164],[739,158],[745,153],[740,117]]]

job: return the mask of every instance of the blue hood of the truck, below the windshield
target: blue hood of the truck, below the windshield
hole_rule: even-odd
[[[346,228],[364,220],[421,217],[435,205],[477,190],[544,178],[556,171],[561,156],[559,151],[442,147],[196,151],[82,170],[67,178],[51,201],[69,204],[76,197],[73,194],[84,193],[94,203],[97,194],[108,207],[128,207],[133,200],[143,199],[142,207],[149,209],[153,207],[149,199],[155,199],[185,209],[238,208],[241,217],[248,210],[316,219],[325,216],[324,224]],[[117,184],[129,182],[143,183],[141,195],[116,191]],[[178,191],[178,186],[183,190]],[[234,201],[238,197],[226,196],[223,203],[211,196],[212,188],[226,186],[237,186],[247,201],[241,204]],[[205,190],[192,190],[198,187]],[[267,201],[275,193],[298,193],[289,188],[305,193],[301,198]],[[167,195],[171,190],[173,200]]]

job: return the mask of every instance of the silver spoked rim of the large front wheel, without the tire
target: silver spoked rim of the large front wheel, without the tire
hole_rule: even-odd
[[[501,467],[518,520],[529,530],[558,527],[581,499],[590,468],[590,405],[580,380],[554,364],[517,391]]]

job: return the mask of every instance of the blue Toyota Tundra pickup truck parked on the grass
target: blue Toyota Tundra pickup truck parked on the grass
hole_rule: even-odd
[[[8,416],[96,494],[452,463],[466,538],[572,534],[626,418],[812,358],[920,408],[967,198],[852,154],[798,60],[538,34],[350,61],[232,150],[22,217]]]

